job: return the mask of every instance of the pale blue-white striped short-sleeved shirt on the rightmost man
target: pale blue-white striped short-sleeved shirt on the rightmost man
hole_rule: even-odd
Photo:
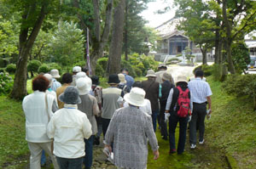
[[[208,82],[204,82],[200,77],[196,77],[194,81],[189,82],[189,91],[193,103],[202,104],[207,102],[207,97],[212,95]]]

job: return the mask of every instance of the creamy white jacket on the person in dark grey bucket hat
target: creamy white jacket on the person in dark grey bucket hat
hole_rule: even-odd
[[[64,104],[49,121],[47,135],[54,138],[54,154],[75,159],[85,155],[84,138],[90,138],[91,125],[87,116],[77,110],[77,104]]]

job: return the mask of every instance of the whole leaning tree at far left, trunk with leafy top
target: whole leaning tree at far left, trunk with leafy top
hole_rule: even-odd
[[[19,59],[15,72],[14,88],[11,92],[11,97],[14,99],[22,99],[26,95],[26,79],[27,79],[27,60],[32,45],[38,37],[45,17],[56,10],[59,1],[53,0],[34,0],[7,1],[15,11],[21,14],[20,20],[20,38],[19,38]]]

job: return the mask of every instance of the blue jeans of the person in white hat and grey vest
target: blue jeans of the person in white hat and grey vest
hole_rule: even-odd
[[[85,156],[84,156],[84,166],[86,169],[90,169],[90,166],[92,165],[92,157],[93,157],[93,141],[94,141],[94,135],[91,135],[90,138],[85,139]]]

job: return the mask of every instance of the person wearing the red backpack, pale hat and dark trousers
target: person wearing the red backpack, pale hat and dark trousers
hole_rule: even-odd
[[[187,77],[177,76],[176,86],[177,87],[171,89],[166,103],[166,118],[168,118],[168,115],[170,115],[168,118],[170,155],[176,153],[176,151],[178,155],[183,154],[186,143],[187,125],[188,121],[191,120],[190,113],[191,110],[193,110]],[[187,109],[183,109],[183,107],[187,107]],[[177,127],[177,122],[179,122],[179,137],[176,150],[175,130]]]

